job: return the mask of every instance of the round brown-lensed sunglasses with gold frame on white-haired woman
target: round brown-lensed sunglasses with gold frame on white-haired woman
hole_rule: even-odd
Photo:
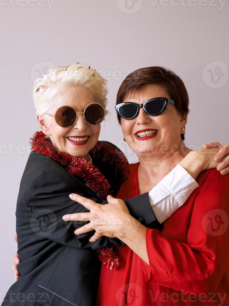
[[[99,103],[90,103],[84,108],[83,112],[77,113],[73,107],[64,105],[56,110],[55,115],[45,114],[54,117],[59,126],[67,128],[75,124],[78,114],[83,114],[83,119],[86,123],[97,125],[103,121],[105,110]]]

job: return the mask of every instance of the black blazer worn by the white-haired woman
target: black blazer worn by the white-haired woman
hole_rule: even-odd
[[[106,171],[107,175],[110,173],[103,169],[105,177]],[[71,200],[70,193],[106,203],[55,160],[31,152],[16,209],[20,277],[8,290],[2,305],[96,305],[101,264],[95,250],[108,241],[121,242],[102,237],[90,243],[93,232],[76,236],[75,228],[83,224],[63,221],[62,216],[88,210]],[[125,202],[131,215],[144,225],[161,228],[148,193]]]

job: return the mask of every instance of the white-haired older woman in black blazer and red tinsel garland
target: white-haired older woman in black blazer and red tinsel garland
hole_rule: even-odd
[[[21,179],[16,210],[20,277],[4,305],[95,305],[100,274],[95,250],[100,249],[111,269],[118,264],[110,243],[123,245],[120,240],[94,231],[76,236],[74,230],[82,222],[62,219],[89,211],[69,194],[106,204],[106,197],[116,195],[128,177],[122,152],[98,141],[106,94],[106,81],[82,64],[50,69],[35,82],[33,97],[42,131],[31,138],[32,152]],[[198,173],[216,165],[213,155],[188,155],[150,194],[125,200],[128,210],[146,227],[160,229],[197,188]],[[96,242],[89,242],[92,234]]]

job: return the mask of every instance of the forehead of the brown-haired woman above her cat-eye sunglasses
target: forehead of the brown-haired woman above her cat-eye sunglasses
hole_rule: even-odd
[[[160,85],[148,84],[143,86],[140,90],[132,92],[125,96],[123,102],[144,103],[151,98],[164,97],[170,98],[165,89]]]

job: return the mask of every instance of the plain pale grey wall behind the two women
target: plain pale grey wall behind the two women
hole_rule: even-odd
[[[47,67],[90,63],[107,78],[110,116],[100,140],[136,156],[122,140],[114,110],[125,76],[163,65],[184,80],[190,97],[186,145],[229,143],[228,29],[226,0],[0,0],[1,43],[1,260],[2,301],[13,283],[17,251],[15,208],[29,155],[28,139],[39,129],[33,81]]]

